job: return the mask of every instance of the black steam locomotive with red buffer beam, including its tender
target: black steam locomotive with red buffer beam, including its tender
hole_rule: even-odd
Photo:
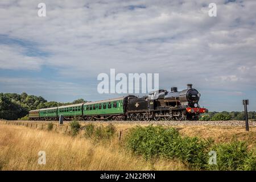
[[[201,113],[208,110],[199,106],[200,93],[192,88],[192,84],[180,92],[176,87],[157,90],[144,97],[129,96],[127,98],[127,118],[131,121],[160,119],[197,120]]]

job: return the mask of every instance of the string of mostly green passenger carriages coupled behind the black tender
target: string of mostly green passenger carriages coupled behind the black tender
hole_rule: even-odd
[[[125,109],[123,107],[125,98],[119,97],[110,100],[31,110],[28,117],[31,120],[57,120],[60,115],[63,115],[66,120],[73,118],[91,121],[95,119],[118,120],[125,117]]]

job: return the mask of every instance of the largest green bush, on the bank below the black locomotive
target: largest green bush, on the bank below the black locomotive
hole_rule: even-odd
[[[162,156],[180,159],[189,167],[205,168],[208,164],[208,150],[213,140],[197,137],[181,137],[174,128],[163,126],[137,126],[126,137],[126,147],[145,159]]]

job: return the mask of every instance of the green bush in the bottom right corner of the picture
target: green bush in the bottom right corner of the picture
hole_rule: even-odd
[[[256,156],[241,141],[216,144],[212,148],[217,154],[217,165],[208,165],[214,170],[256,170]]]

